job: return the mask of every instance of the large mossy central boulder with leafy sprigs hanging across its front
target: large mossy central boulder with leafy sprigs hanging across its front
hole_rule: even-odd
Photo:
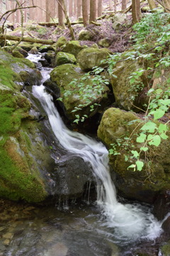
[[[64,111],[71,120],[76,119],[75,115],[77,114],[80,117],[84,115],[91,117],[110,103],[108,100],[108,92],[110,91],[108,87],[104,83],[101,83],[100,87],[95,87],[92,81],[93,76],[89,75],[85,80],[81,80],[83,75],[84,72],[77,65],[73,64],[60,65],[50,73],[50,79],[57,86],[55,90],[53,84],[51,89],[57,92],[58,88],[60,88]],[[75,79],[77,81],[69,84]],[[75,108],[78,108],[76,113],[74,111]]]

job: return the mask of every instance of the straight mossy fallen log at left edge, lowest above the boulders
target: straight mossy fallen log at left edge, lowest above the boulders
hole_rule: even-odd
[[[43,40],[43,39],[35,39],[35,38],[21,38],[19,36],[7,36],[7,35],[0,35],[0,39],[3,40],[11,40],[11,41],[23,41],[28,43],[41,43],[46,45],[53,45],[55,41],[52,40]]]

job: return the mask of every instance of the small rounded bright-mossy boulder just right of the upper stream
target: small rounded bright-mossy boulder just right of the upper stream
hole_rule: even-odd
[[[66,63],[76,64],[77,59],[73,54],[70,54],[70,53],[63,53],[63,52],[57,53],[55,57],[55,67],[57,65],[62,65]]]

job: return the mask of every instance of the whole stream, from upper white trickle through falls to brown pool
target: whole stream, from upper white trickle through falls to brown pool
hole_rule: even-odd
[[[29,58],[38,61],[39,57]],[[49,69],[42,70],[42,83],[50,78],[49,73]],[[67,129],[43,85],[34,85],[33,95],[40,100],[61,146],[91,164],[97,200],[68,205],[66,198],[62,208],[9,203],[1,211],[0,235],[7,249],[0,242],[0,256],[130,256],[137,255],[133,254],[135,247],[143,247],[145,242],[154,244],[162,234],[162,223],[149,206],[118,201],[106,147]]]

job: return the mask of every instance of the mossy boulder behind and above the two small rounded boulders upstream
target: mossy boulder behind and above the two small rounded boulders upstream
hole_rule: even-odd
[[[69,41],[64,46],[62,46],[62,52],[71,53],[77,57],[78,53],[87,46],[81,46],[79,41]]]

